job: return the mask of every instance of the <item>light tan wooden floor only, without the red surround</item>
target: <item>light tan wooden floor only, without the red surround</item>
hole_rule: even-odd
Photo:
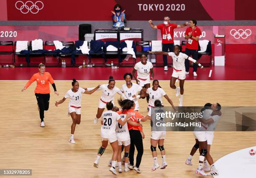
[[[46,127],[41,128],[34,95],[36,84],[33,83],[22,93],[20,90],[26,81],[0,81],[0,169],[32,169],[32,177],[36,178],[113,177],[107,166],[112,155],[110,145],[100,159],[99,168],[93,167],[101,145],[100,123],[93,124],[101,92],[83,95],[81,124],[76,127],[76,144],[73,145],[68,143],[72,123],[72,119],[67,116],[68,100],[58,108],[54,105],[71,88],[71,81],[55,83],[60,95],[55,96],[51,88],[50,108],[45,114]],[[79,84],[82,87],[94,87],[104,83],[107,81],[81,81]],[[117,81],[116,86],[120,88],[123,83]],[[169,81],[160,81],[160,85],[177,106],[178,98],[174,90],[169,88]],[[186,81],[184,105],[201,106],[207,102],[218,102],[222,106],[256,106],[255,88],[256,82],[253,81]],[[139,103],[140,112],[146,115],[146,100],[141,99]],[[164,105],[169,105],[166,100]],[[130,171],[118,176],[200,177],[195,174],[198,153],[192,159],[192,166],[184,164],[194,145],[192,132],[168,132],[164,143],[168,167],[151,172],[153,160],[149,122],[144,124],[143,129],[146,138],[143,140],[142,173]],[[215,132],[211,155],[217,160],[235,150],[255,146],[255,137],[255,132]],[[161,157],[158,158],[161,164]]]

